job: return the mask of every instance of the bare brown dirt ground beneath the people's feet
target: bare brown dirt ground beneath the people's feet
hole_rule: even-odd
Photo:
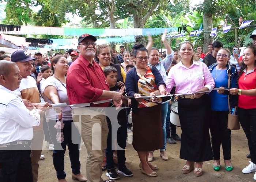
[[[181,130],[177,128],[177,133],[180,135]],[[129,142],[132,141],[131,137],[128,138]],[[133,177],[124,177],[120,175],[120,179],[116,181],[122,182],[253,182],[253,174],[243,174],[242,169],[249,165],[249,160],[246,158],[248,153],[248,143],[242,129],[231,132],[231,162],[234,166],[233,171],[227,172],[224,166],[223,155],[221,154],[221,170],[214,171],[212,169],[212,162],[207,161],[203,164],[203,175],[195,177],[193,171],[189,174],[182,174],[181,168],[185,161],[179,158],[180,142],[175,145],[166,144],[168,161],[163,161],[159,156],[159,151],[155,151],[153,164],[159,166],[158,177],[148,177],[141,173],[139,168],[139,157],[137,152],[133,149],[132,144],[127,145],[126,161],[128,169],[133,172]],[[45,145],[45,144],[44,144]],[[53,167],[52,161],[53,151],[43,150],[42,154],[45,159],[39,161],[39,179],[38,182],[57,182],[56,171]],[[221,149],[222,153],[222,149]],[[65,172],[67,173],[67,182],[75,182],[71,178],[70,160],[68,157],[68,150],[65,153]],[[86,148],[82,145],[80,150],[81,173],[86,175]],[[103,180],[109,179],[106,176],[106,171],[102,174]]]

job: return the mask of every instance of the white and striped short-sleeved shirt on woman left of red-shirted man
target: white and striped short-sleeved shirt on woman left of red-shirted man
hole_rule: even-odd
[[[50,85],[57,89],[57,94],[58,94],[60,103],[65,102],[69,104],[66,84],[65,83],[61,84],[61,82],[56,78],[54,78],[53,76],[50,76],[49,78],[47,78],[41,87],[41,92],[45,102],[53,104],[53,102],[44,95],[45,88]],[[46,114],[46,121],[55,120],[58,118],[58,114],[53,108],[47,110],[45,114]],[[61,108],[61,114],[62,114],[62,119],[64,121],[72,120],[71,108],[69,106]]]

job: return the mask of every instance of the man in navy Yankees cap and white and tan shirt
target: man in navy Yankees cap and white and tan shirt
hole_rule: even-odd
[[[11,60],[15,62],[20,70],[22,80],[20,86],[14,93],[23,99],[26,107],[51,107],[49,103],[40,103],[39,91],[37,83],[33,77],[30,76],[32,70],[32,60],[29,54],[23,50],[18,50],[12,53]],[[34,182],[38,179],[38,161],[41,157],[42,145],[44,139],[43,123],[39,126],[33,127],[34,137],[31,143],[32,149],[32,172]]]

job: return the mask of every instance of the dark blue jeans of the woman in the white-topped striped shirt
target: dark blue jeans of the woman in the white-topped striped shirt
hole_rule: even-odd
[[[56,122],[54,120],[50,120],[48,123],[49,132],[51,140],[54,144],[54,150],[52,154],[53,158],[53,165],[57,173],[58,179],[65,179],[66,173],[64,171],[64,155],[66,151],[66,146],[68,145],[69,150],[69,159],[71,162],[71,169],[73,174],[79,174],[80,173],[80,161],[79,161],[79,144],[81,142],[81,136],[79,134],[78,129],[75,127],[73,121],[63,121],[64,128],[63,128],[63,134],[64,134],[64,141],[62,143],[57,143],[56,140],[56,128],[54,128],[54,125]],[[73,127],[72,127],[73,125]],[[76,140],[74,144],[72,143],[72,139]]]

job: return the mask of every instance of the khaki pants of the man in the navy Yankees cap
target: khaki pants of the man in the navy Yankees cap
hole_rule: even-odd
[[[44,140],[43,130],[34,131],[34,136],[31,143],[31,151],[32,151],[31,165],[32,165],[32,174],[33,174],[34,182],[37,182],[37,179],[38,179],[38,168],[39,168],[38,161],[42,153],[43,140]]]

